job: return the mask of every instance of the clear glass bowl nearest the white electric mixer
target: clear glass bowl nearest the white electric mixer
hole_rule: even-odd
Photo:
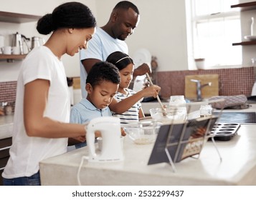
[[[138,123],[122,124],[122,126],[135,144],[151,144],[156,141],[161,123],[157,121],[139,121]]]

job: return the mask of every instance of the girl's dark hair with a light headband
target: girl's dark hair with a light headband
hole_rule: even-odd
[[[133,64],[133,59],[121,51],[115,51],[110,54],[107,58],[107,61],[114,64],[119,69],[119,71],[125,69],[128,64]]]

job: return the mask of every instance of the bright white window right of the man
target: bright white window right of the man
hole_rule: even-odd
[[[240,11],[230,6],[238,0],[192,0],[191,25],[194,59],[204,58],[205,66],[242,64]]]

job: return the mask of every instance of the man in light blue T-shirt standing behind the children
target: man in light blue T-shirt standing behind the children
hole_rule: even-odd
[[[82,98],[86,98],[85,80],[87,73],[92,66],[98,61],[105,61],[114,51],[122,51],[128,54],[128,46],[125,39],[133,34],[134,29],[138,26],[140,15],[137,6],[130,1],[120,1],[114,7],[110,19],[103,27],[97,27],[93,39],[87,49],[80,51],[80,85]],[[134,72],[133,77],[151,74],[148,64],[141,64]]]

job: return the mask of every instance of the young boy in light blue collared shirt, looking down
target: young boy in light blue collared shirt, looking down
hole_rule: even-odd
[[[112,116],[108,105],[118,91],[119,83],[119,71],[113,64],[105,61],[96,63],[86,79],[87,98],[72,107],[70,123],[85,124],[97,117]],[[81,141],[74,138],[70,139],[69,143],[75,143],[76,139],[78,142]],[[85,145],[85,142],[75,144],[75,148]],[[72,150],[74,146],[69,146],[68,149]]]

